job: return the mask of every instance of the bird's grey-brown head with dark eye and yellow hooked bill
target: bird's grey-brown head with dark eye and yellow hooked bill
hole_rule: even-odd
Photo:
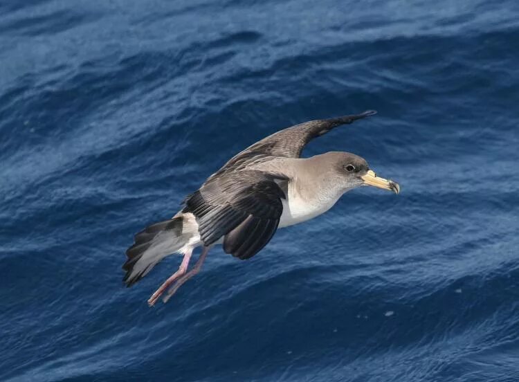
[[[359,187],[361,185],[372,185],[398,194],[400,186],[397,182],[383,179],[377,176],[364,158],[349,152],[328,153],[335,156],[335,172],[345,185],[346,190]]]

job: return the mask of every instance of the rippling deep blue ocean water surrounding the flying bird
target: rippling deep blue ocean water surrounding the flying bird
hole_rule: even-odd
[[[0,380],[519,381],[515,0],[0,1]],[[134,233],[298,122],[363,188],[167,304]]]

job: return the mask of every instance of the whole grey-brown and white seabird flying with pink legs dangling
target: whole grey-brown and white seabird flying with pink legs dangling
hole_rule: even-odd
[[[188,195],[182,210],[172,219],[152,224],[135,235],[122,266],[125,284],[135,284],[164,257],[180,253],[183,260],[179,269],[148,300],[150,307],[161,295],[167,302],[200,271],[215,244],[222,244],[234,257],[250,259],[266,246],[277,228],[321,215],[353,188],[372,185],[398,194],[398,183],[376,176],[355,154],[327,152],[301,158],[302,149],[313,138],[375,113],[368,110],[311,120],[244,149]],[[199,246],[201,255],[188,271],[192,253]]]

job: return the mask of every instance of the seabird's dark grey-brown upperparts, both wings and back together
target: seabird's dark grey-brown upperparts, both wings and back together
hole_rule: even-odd
[[[281,199],[286,195],[280,183],[289,181],[289,176],[268,164],[280,157],[300,158],[313,138],[375,113],[370,110],[304,122],[278,131],[231,158],[185,199],[183,212],[197,217],[203,245],[210,246],[225,236],[224,251],[239,259],[261,251],[274,235],[283,212]]]

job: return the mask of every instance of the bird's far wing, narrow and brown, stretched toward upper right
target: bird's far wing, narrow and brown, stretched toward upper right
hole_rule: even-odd
[[[260,153],[271,156],[284,156],[286,158],[299,158],[304,146],[313,138],[326,134],[334,127],[347,125],[355,120],[372,116],[374,114],[376,114],[376,111],[367,110],[363,113],[352,114],[351,116],[304,122],[300,125],[277,131],[277,133],[260,140],[251,147],[248,147],[238,154],[238,156],[249,153]]]

